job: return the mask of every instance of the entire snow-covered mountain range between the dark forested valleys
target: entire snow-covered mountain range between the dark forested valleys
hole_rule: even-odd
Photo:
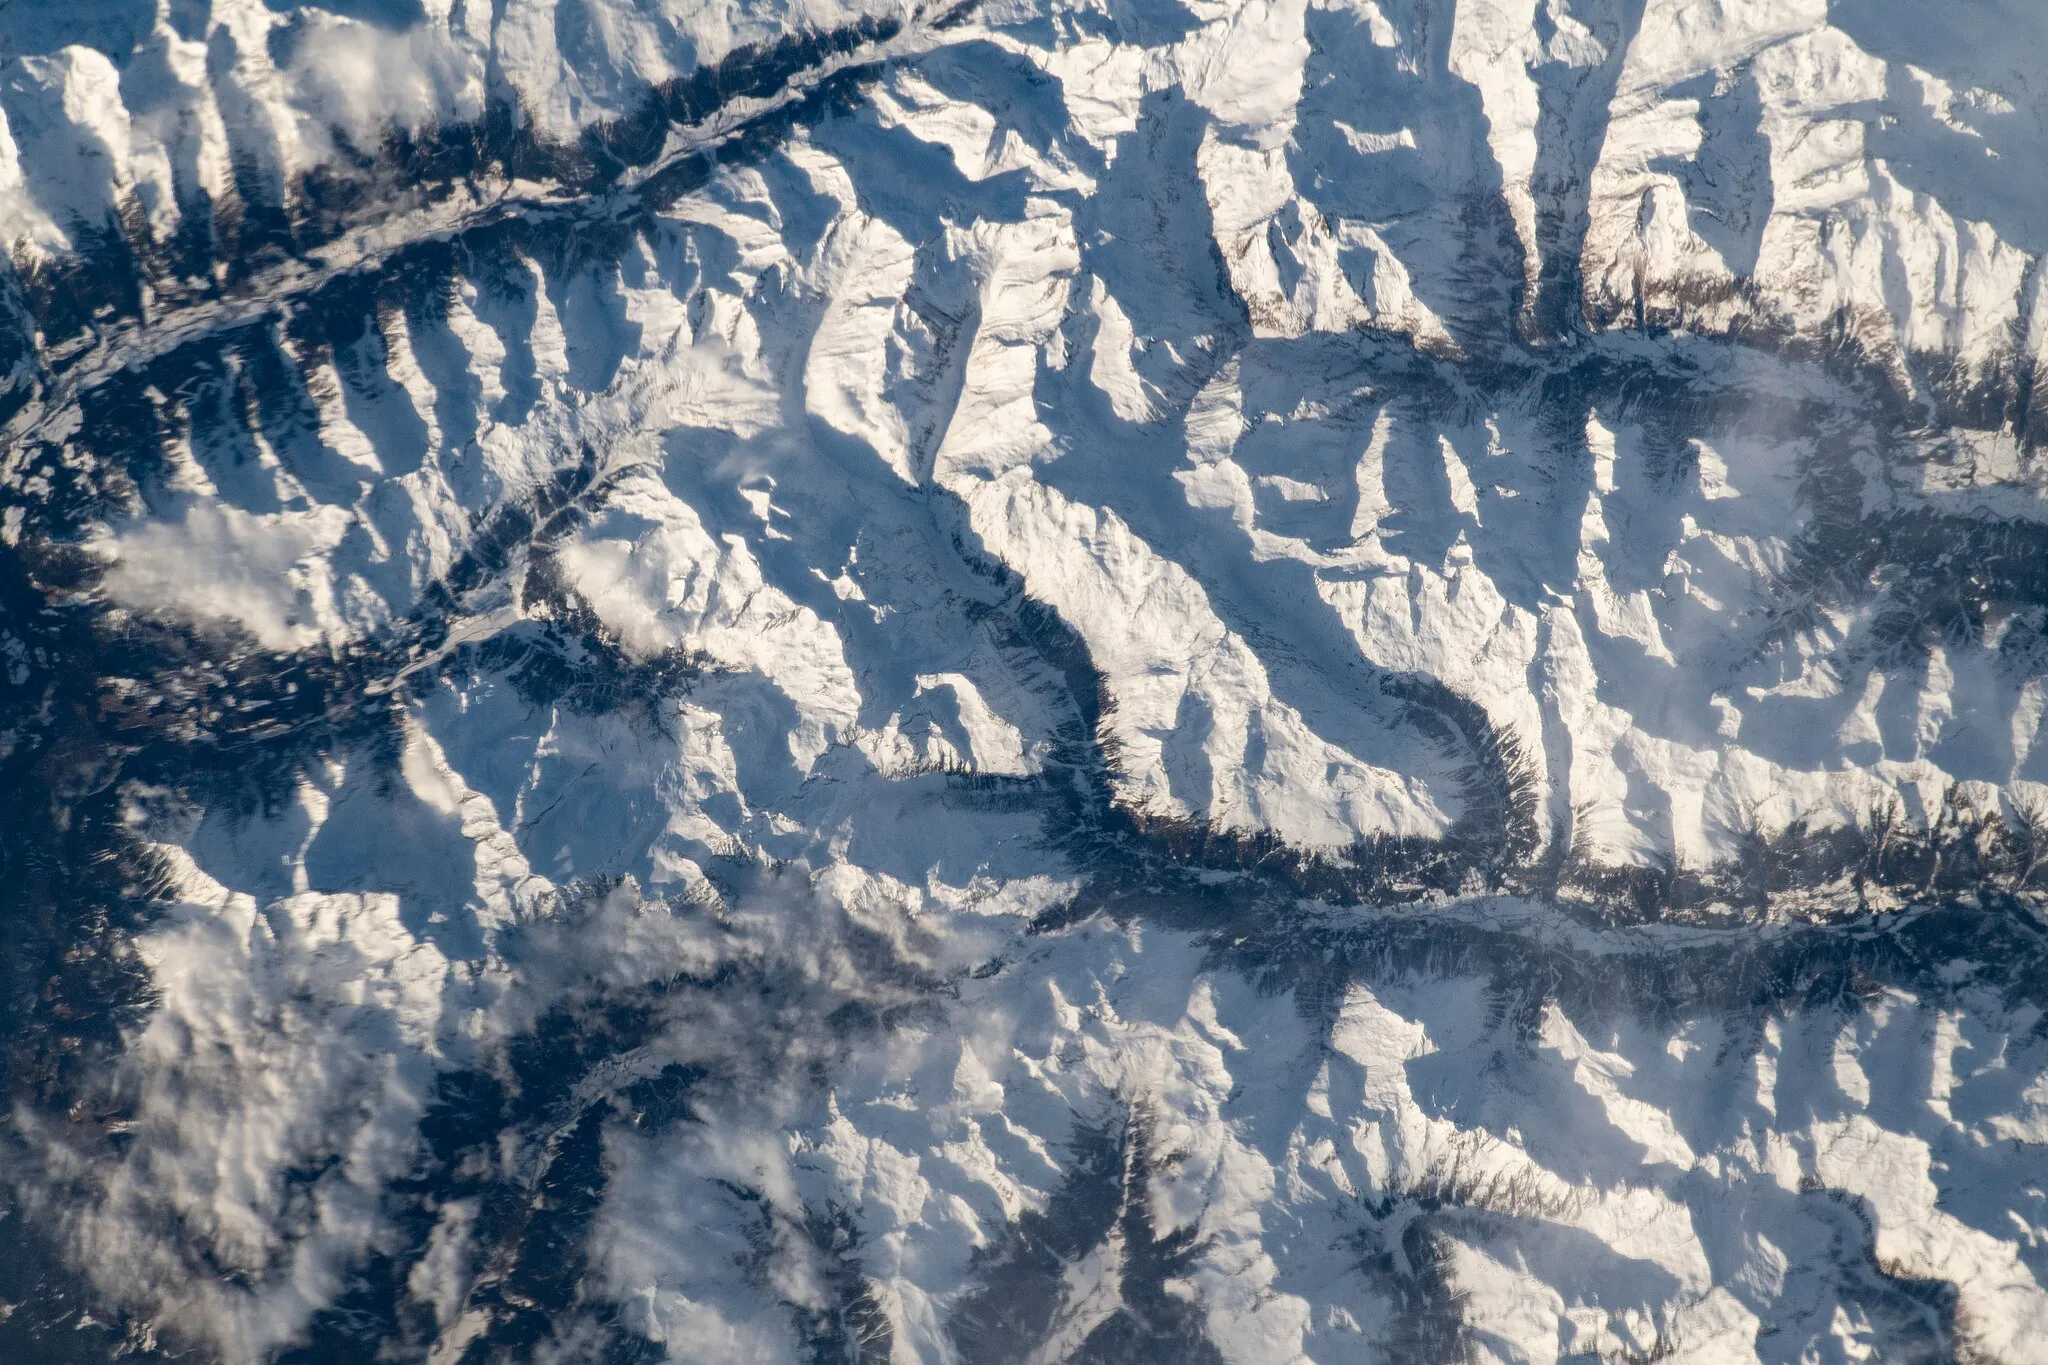
[[[498,88],[571,139],[741,45],[897,8],[201,12],[0,12],[20,258],[129,205],[168,239],[238,176],[285,196]],[[408,694],[395,759],[328,755],[283,812],[137,794],[178,890],[139,943],[160,995],[129,1142],[39,1136],[94,1189],[78,1265],[166,1340],[266,1359],[399,1248],[387,1187],[436,1076],[504,1070],[606,982],[729,968],[780,995],[674,1005],[580,1093],[670,1062],[760,1078],[604,1130],[588,1293],[670,1359],[801,1359],[829,1207],[887,1359],[971,1363],[961,1312],[1090,1126],[1157,1158],[1120,1197],[1188,1234],[1163,1291],[1233,1363],[1415,1359],[1391,1285],[1423,1252],[1470,1359],[1886,1359],[1913,1281],[1954,1287],[1968,1359],[2048,1359],[2036,1007],[1884,988],[1659,1019],[1532,986],[1516,1013],[1456,964],[1309,999],[1137,917],[1034,931],[1090,868],[958,798],[1034,780],[1073,724],[991,624],[1022,600],[1085,655],[1112,796],[1159,825],[1333,857],[1446,835],[1462,759],[1382,686],[1411,675],[1530,755],[1544,847],[1608,868],[2048,796],[2042,671],[1999,634],[2040,622],[1915,657],[1870,614],[1780,610],[1823,475],[1858,512],[2048,520],[2038,450],[1939,391],[2048,350],[2048,27],[1956,14],[989,4],[623,217],[594,264],[457,266],[434,309],[317,354],[274,301],[301,420],[252,415],[236,366],[156,393],[182,403],[168,469],[84,536],[109,610],[371,643],[590,452],[553,571],[623,659],[700,673],[592,712],[451,671]],[[1800,352],[1843,338],[1911,440]],[[1561,397],[1595,354],[1688,403],[1657,426],[1620,383]],[[10,487],[74,420],[16,424]],[[555,612],[506,573],[455,632]],[[735,862],[776,872],[727,898]],[[1401,913],[1593,962],[1706,933],[1477,892]],[[848,1005],[887,1023],[848,1042]],[[489,1160],[526,1179],[559,1140]],[[432,1359],[481,1330],[475,1218],[438,1207],[412,1271]],[[1126,1236],[1063,1267],[1030,1359],[1122,1302]]]

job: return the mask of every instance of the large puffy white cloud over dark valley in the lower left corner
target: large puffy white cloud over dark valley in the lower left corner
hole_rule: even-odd
[[[106,1078],[131,1097],[127,1146],[94,1154],[25,1121],[47,1169],[94,1191],[59,1216],[96,1287],[240,1365],[297,1338],[389,1240],[446,962],[395,896],[258,911],[174,864],[182,898],[139,941],[158,1005]]]

